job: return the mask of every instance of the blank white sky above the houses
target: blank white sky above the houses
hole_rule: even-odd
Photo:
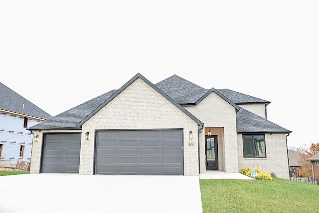
[[[0,1],[0,82],[55,116],[138,72],[177,74],[272,103],[293,131],[319,142],[318,0]]]

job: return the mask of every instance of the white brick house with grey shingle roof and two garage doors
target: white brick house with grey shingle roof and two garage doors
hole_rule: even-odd
[[[289,179],[291,131],[267,119],[268,104],[177,75],[153,84],[138,73],[30,127],[38,138],[30,173],[197,176],[259,167]]]

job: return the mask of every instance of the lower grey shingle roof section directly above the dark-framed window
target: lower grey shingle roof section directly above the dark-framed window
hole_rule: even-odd
[[[240,107],[236,114],[237,133],[291,133],[291,131]]]

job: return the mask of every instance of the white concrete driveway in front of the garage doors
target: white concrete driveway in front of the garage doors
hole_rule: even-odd
[[[202,213],[199,177],[26,174],[0,177],[0,213]]]

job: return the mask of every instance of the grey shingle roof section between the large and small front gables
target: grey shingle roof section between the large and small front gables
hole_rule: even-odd
[[[155,84],[155,86],[179,104],[194,104],[208,92],[207,89],[177,75],[170,76]]]

